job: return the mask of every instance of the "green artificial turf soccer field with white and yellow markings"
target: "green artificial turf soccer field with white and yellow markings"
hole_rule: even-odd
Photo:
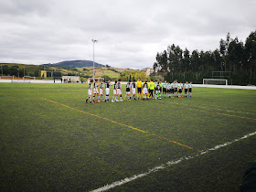
[[[87,88],[0,83],[1,190],[233,191],[256,160],[256,91],[87,104]]]

